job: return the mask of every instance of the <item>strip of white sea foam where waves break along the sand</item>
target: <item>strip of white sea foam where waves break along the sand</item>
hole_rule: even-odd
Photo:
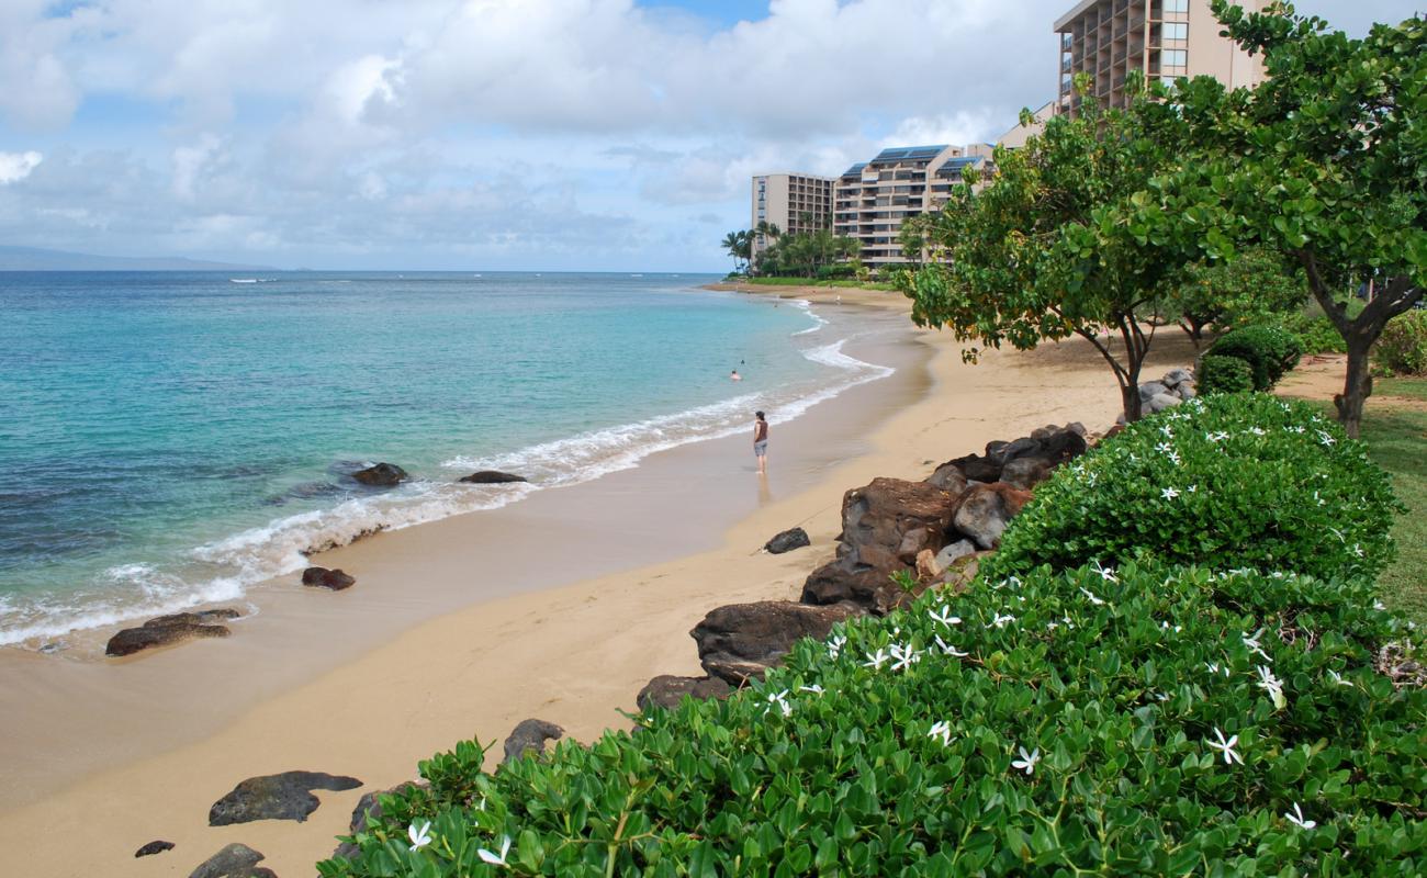
[[[816,318],[811,310],[809,314]],[[893,374],[890,367],[848,355],[842,350],[846,343],[842,338],[803,351],[808,360],[836,370],[833,380],[822,387],[741,394],[508,454],[461,455],[442,464],[451,470],[518,471],[529,483],[492,487],[418,480],[381,497],[344,500],[331,508],[275,518],[263,527],[201,545],[193,550],[190,568],[208,571],[208,575],[193,575],[191,571],[178,575],[150,564],[126,564],[106,571],[101,588],[64,598],[26,601],[23,611],[0,604],[0,618],[4,620],[0,645],[41,642],[127,620],[233,602],[257,582],[307,567],[307,551],[345,545],[377,531],[499,508],[542,488],[586,483],[629,470],[659,451],[733,435],[746,428],[748,413],[753,408],[766,410],[768,420],[775,424],[786,423],[852,387]],[[0,595],[0,600],[4,597]]]

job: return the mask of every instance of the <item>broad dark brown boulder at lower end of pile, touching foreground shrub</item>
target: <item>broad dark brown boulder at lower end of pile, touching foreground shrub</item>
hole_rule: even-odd
[[[731,685],[761,678],[782,664],[783,655],[805,637],[823,640],[842,620],[862,615],[853,604],[812,607],[791,601],[759,601],[719,607],[689,631],[699,644],[699,662],[709,677]]]

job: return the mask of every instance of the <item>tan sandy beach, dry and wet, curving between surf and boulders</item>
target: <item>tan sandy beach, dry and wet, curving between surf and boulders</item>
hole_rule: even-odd
[[[893,293],[778,293],[826,303],[841,300],[843,306],[862,303],[900,310],[906,306]],[[614,547],[611,552],[618,554],[618,545],[628,543],[611,534],[622,534],[626,527],[634,527],[641,540],[658,544],[664,531],[688,533],[689,528],[676,527],[686,517],[696,523],[716,521],[718,515],[701,513],[701,493],[719,494],[712,485],[736,481],[732,493],[745,498],[742,511],[736,504],[721,505],[719,514],[735,511],[726,520],[736,524],[721,535],[706,534],[705,550],[691,554],[684,547],[698,540],[685,538],[666,548],[665,560],[638,570],[618,570],[618,558],[591,558],[591,568],[606,565],[614,572],[559,588],[512,588],[504,597],[474,604],[467,600],[464,607],[408,625],[377,645],[364,640],[362,631],[354,635],[360,648],[344,650],[328,641],[341,661],[324,660],[324,667],[331,667],[315,678],[294,685],[294,680],[304,680],[301,674],[274,671],[275,682],[251,704],[244,701],[238,711],[214,708],[223,721],[203,737],[181,744],[164,741],[153,755],[87,769],[73,784],[56,784],[27,797],[34,801],[0,812],[0,875],[187,875],[234,841],[264,852],[263,865],[283,878],[311,875],[313,864],[330,855],[334,837],[347,829],[362,792],[412,778],[418,760],[461,738],[478,737],[494,742],[498,751],[501,738],[527,717],[558,722],[581,741],[598,737],[605,728],[628,728],[629,721],[619,711],[634,710],[635,694],[651,677],[699,672],[688,631],[704,614],[729,602],[796,600],[806,574],[832,555],[845,490],[878,475],[920,478],[935,463],[1047,423],[1082,421],[1092,430],[1103,430],[1117,414],[1119,394],[1109,368],[1080,343],[1032,354],[992,353],[980,365],[963,364],[948,335],[913,333],[903,344],[909,350],[933,351],[929,383],[902,384],[898,393],[882,390],[883,383],[869,384],[846,394],[846,403],[860,407],[860,415],[843,405],[829,408],[819,420],[819,407],[782,430],[775,428],[769,458],[775,475],[768,488],[752,473],[742,440],[721,440],[728,450],[719,443],[704,443],[655,455],[639,470],[591,483],[605,487],[591,491],[599,500],[588,505],[569,498],[558,504],[551,500],[549,514],[555,514],[557,505],[565,510],[559,527],[569,530],[552,530],[545,513],[525,508],[518,515],[462,515],[381,534],[323,561],[355,572],[357,588],[342,595],[305,594],[287,601],[285,621],[270,620],[267,635],[243,632],[228,641],[188,644],[120,665],[140,668],[161,662],[164,670],[154,674],[156,681],[167,681],[170,688],[183,681],[195,697],[204,694],[201,702],[221,705],[224,688],[244,674],[244,662],[273,668],[273,651],[278,665],[300,662],[285,658],[283,638],[294,644],[293,655],[303,655],[295,647],[303,637],[301,622],[340,612],[340,601],[360,588],[387,595],[365,604],[368,615],[375,611],[401,617],[407,605],[424,601],[427,590],[445,595],[441,598],[445,601],[459,592],[458,584],[472,578],[497,580],[519,571],[529,575],[544,568],[565,570],[571,562],[578,568],[584,558],[571,558],[568,547],[596,545],[599,540],[589,540],[591,534],[604,534]],[[1157,347],[1154,368],[1183,365],[1193,357],[1174,335],[1164,335]],[[913,364],[923,361],[910,358]],[[821,445],[822,433],[838,434],[848,424],[858,425],[860,438],[843,437],[826,448]],[[779,443],[785,450],[782,457]],[[789,445],[812,450],[799,457]],[[779,483],[779,465],[789,465],[791,458],[801,460],[798,477]],[[505,511],[534,504],[532,498]],[[756,551],[768,537],[793,525],[808,530],[812,548],[785,555]],[[482,534],[489,528],[494,533]],[[571,533],[579,528],[588,533]],[[362,627],[360,618],[347,621]],[[251,652],[254,642],[263,644],[264,655]],[[215,661],[213,655],[238,658]],[[41,661],[36,658],[31,664]],[[86,672],[94,670],[116,668],[101,664]],[[13,674],[7,685],[23,685],[23,674]],[[146,717],[141,702],[138,710],[133,704],[144,692],[127,685],[104,687],[103,681],[90,685],[94,698],[128,700],[128,710],[116,702],[101,711],[124,714],[128,725],[73,730],[63,711],[54,712],[50,732],[71,748],[68,752],[86,741],[101,747],[106,735],[163,738],[166,722],[183,720],[176,712]],[[157,682],[147,694],[161,704],[174,702],[161,697]],[[44,702],[44,692],[30,695]],[[50,704],[47,710],[59,708]],[[36,725],[16,728],[41,737],[43,728]],[[49,752],[60,754],[49,757],[50,767],[60,771],[64,748]],[[24,754],[23,742],[0,741],[0,757],[6,761]],[[304,824],[207,827],[208,807],[234,784],[287,769],[352,774],[364,787],[318,792],[323,805]],[[177,842],[177,848],[133,858],[136,848],[156,838]]]

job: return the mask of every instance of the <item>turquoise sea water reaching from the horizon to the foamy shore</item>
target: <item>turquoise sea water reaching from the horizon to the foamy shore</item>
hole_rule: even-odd
[[[304,550],[596,478],[886,374],[805,307],[708,280],[0,274],[0,645],[238,598]],[[414,480],[348,477],[375,461]],[[531,484],[454,483],[487,467]]]

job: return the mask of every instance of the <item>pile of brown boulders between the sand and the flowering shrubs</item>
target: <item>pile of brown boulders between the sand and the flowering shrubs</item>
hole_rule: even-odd
[[[776,667],[803,637],[823,640],[832,627],[863,614],[886,614],[933,584],[959,587],[1000,544],[1006,524],[1037,484],[1089,448],[1080,424],[1046,425],[1010,443],[989,443],[936,467],[925,481],[873,478],[842,498],[842,533],[832,561],[808,575],[801,601],[732,604],[689,631],[705,677],[655,677],[639,691],[639,710],[672,708],[685,697],[725,698]],[[799,541],[791,534],[802,534]],[[806,545],[801,528],[765,545]],[[893,581],[900,574],[910,588]]]

